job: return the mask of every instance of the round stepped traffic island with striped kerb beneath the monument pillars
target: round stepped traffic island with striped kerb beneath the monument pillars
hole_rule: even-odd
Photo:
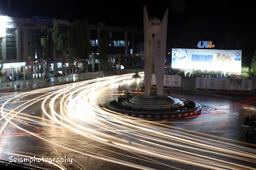
[[[106,108],[131,117],[183,118],[200,115],[202,106],[186,99],[168,95],[118,97],[106,104]]]

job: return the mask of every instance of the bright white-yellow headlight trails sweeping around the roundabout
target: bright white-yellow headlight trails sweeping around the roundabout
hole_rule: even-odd
[[[3,133],[7,125],[12,125],[36,138],[67,150],[138,169],[150,169],[154,164],[179,169],[179,166],[173,166],[172,162],[207,169],[255,169],[256,150],[252,147],[240,146],[239,141],[223,138],[221,138],[222,141],[218,141],[220,138],[209,134],[129,117],[101,108],[97,103],[100,92],[115,82],[130,80],[131,76],[132,74],[127,74],[125,76],[78,81],[71,85],[59,85],[54,90],[49,87],[20,93],[19,96],[9,96],[9,99],[4,99],[6,101],[1,107],[1,115],[5,122],[1,126],[0,134]],[[30,101],[21,100],[23,96],[28,97],[33,94],[40,94],[40,96],[34,97]],[[19,106],[13,108],[12,111],[6,110],[8,104],[18,101],[21,103]],[[25,122],[31,126],[33,124],[33,127],[40,124],[40,129],[48,131],[44,126],[49,126],[49,124],[40,121],[43,118],[40,119],[29,115],[29,113],[24,113],[35,103],[42,103],[42,114],[49,118],[46,120],[52,123],[51,126],[54,126],[55,129],[61,128],[68,131],[67,134],[61,134],[65,138],[70,138],[68,134],[71,132],[81,135],[83,138],[109,145],[108,149],[103,147],[100,149],[115,153],[117,156],[109,157],[86,150],[86,148],[68,146],[61,141],[48,139],[47,136],[20,127],[20,124]],[[77,139],[70,138],[70,140]],[[84,143],[84,141],[77,142]],[[99,146],[88,143],[86,145],[99,148]],[[243,145],[245,144],[243,143]],[[115,152],[111,149],[113,147],[124,152]],[[123,157],[120,159],[118,155],[126,157],[127,160]],[[218,156],[214,157],[214,155]],[[147,162],[148,167],[145,167],[144,163],[138,163],[138,161],[132,162],[136,159],[144,163]],[[64,169],[65,167],[61,168]]]

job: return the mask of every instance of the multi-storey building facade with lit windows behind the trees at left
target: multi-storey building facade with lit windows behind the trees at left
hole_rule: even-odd
[[[0,16],[1,73],[12,80],[44,78],[61,73],[63,64],[51,36],[55,18],[17,18]],[[69,26],[68,20],[58,20]],[[141,67],[143,63],[143,31],[134,27],[111,27],[106,23],[93,25],[82,21],[84,38],[90,39],[92,53],[79,62],[88,62],[88,71],[99,71],[99,41],[108,45],[109,67]],[[83,64],[79,64],[83,66]],[[120,65],[118,65],[120,66]],[[83,69],[79,69],[79,73]]]

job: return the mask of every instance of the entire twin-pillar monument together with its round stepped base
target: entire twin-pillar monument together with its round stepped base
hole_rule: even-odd
[[[163,94],[164,89],[164,60],[166,57],[166,35],[168,23],[168,8],[164,13],[163,20],[148,18],[147,8],[143,8],[144,19],[144,85],[145,93],[129,97],[116,104],[116,101],[108,103],[108,108],[132,117],[182,117],[199,114],[202,108],[198,104],[190,103],[192,108],[187,107],[183,111],[184,99]],[[150,94],[152,72],[156,74],[157,95]],[[189,101],[188,101],[189,102]],[[116,108],[118,106],[118,108]],[[186,113],[185,113],[186,112]]]

